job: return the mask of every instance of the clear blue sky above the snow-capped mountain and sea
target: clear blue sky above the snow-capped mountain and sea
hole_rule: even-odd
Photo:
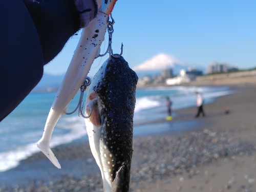
[[[154,2],[154,3],[153,3]],[[241,69],[256,67],[256,1],[125,1],[118,0],[113,17],[113,52],[130,67],[159,53],[173,55],[194,66],[212,61],[226,62]],[[45,72],[66,72],[80,33],[71,37]],[[105,37],[108,40],[108,37]],[[108,42],[101,45],[101,53]],[[106,57],[98,58],[93,75]]]

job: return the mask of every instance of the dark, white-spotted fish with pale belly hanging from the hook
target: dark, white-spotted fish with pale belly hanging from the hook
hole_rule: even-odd
[[[91,116],[86,119],[86,129],[104,192],[129,191],[137,81],[124,58],[112,56],[88,90],[86,113]]]

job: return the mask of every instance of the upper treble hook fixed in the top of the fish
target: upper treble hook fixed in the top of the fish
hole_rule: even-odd
[[[113,25],[115,24],[115,20],[114,18],[112,17],[112,13],[110,14],[110,17],[112,19],[112,22],[109,20],[108,21],[108,33],[109,33],[109,45],[108,45],[108,49],[106,49],[106,52],[104,54],[99,54],[98,56],[99,57],[103,57],[105,56],[107,53],[110,54],[110,59],[111,59],[111,56],[113,57],[120,57],[122,54],[123,54],[123,44],[121,44],[121,53],[119,55],[117,54],[113,54],[113,50],[112,50],[112,34],[114,33],[114,28],[113,28]]]

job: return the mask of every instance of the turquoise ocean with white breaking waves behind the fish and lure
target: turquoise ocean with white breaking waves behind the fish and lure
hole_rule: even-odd
[[[202,93],[205,103],[233,93],[228,87],[176,86],[137,89],[134,136],[159,133],[169,129],[188,129],[189,126],[181,128],[177,123],[170,128],[167,123],[161,123],[159,127],[157,123],[151,125],[148,122],[166,117],[166,96],[170,97],[173,102],[174,118],[176,110],[195,106],[195,91]],[[83,100],[86,99],[86,94]],[[0,172],[16,167],[20,160],[39,152],[35,143],[42,136],[55,95],[56,93],[30,93],[9,116],[0,122]],[[78,98],[79,93],[69,104],[68,112],[76,108]],[[64,115],[59,119],[53,131],[51,147],[87,138],[84,119],[78,117],[77,113]]]

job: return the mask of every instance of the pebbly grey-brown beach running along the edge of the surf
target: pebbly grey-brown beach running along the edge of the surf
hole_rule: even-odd
[[[130,191],[256,191],[256,86],[231,88],[204,106],[206,117],[195,119],[196,106],[175,111],[169,131],[134,137]],[[172,123],[183,121],[200,126],[172,132]],[[61,169],[34,154],[0,173],[0,191],[103,191],[86,138],[53,152]]]

